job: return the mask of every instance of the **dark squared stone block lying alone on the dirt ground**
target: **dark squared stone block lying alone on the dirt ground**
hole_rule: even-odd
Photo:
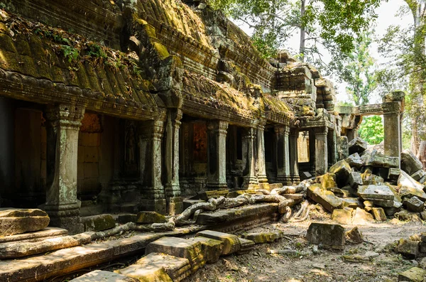
[[[345,243],[344,228],[339,224],[313,222],[307,229],[306,239],[311,244],[342,249]]]

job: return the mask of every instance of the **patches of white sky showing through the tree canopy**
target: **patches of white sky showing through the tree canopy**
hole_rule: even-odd
[[[397,16],[398,11],[401,6],[406,6],[405,1],[403,0],[388,0],[387,2],[383,2],[381,6],[376,10],[378,14],[378,18],[376,19],[376,36],[381,38],[386,33],[386,30],[391,25],[400,25],[403,27],[407,27],[413,23],[413,17],[409,14],[404,16]],[[243,23],[236,21],[236,24],[239,25],[247,34],[251,35],[251,31],[248,26]],[[298,50],[299,49],[299,35],[297,33],[294,34],[292,38],[286,43],[288,45],[289,50]],[[378,44],[373,43],[371,45],[371,56],[376,59],[377,64],[386,63],[386,59],[383,58],[378,53]],[[329,61],[330,56],[324,53],[324,61]],[[346,85],[344,83],[339,83],[333,79],[333,77],[327,77],[329,80],[334,82],[334,85],[337,85],[337,101],[349,101],[346,94]],[[378,103],[380,102],[380,97],[378,94],[373,95],[370,99],[370,103]]]

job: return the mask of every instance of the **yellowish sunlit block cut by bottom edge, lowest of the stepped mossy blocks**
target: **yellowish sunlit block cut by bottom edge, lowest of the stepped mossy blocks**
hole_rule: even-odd
[[[118,269],[114,272],[136,278],[140,282],[173,282],[172,278],[165,272],[165,269],[160,266],[142,267],[132,264],[125,269]]]

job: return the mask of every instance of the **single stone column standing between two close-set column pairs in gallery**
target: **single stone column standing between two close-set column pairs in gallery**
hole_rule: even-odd
[[[226,185],[226,130],[228,122],[207,123],[207,188],[227,190]]]

